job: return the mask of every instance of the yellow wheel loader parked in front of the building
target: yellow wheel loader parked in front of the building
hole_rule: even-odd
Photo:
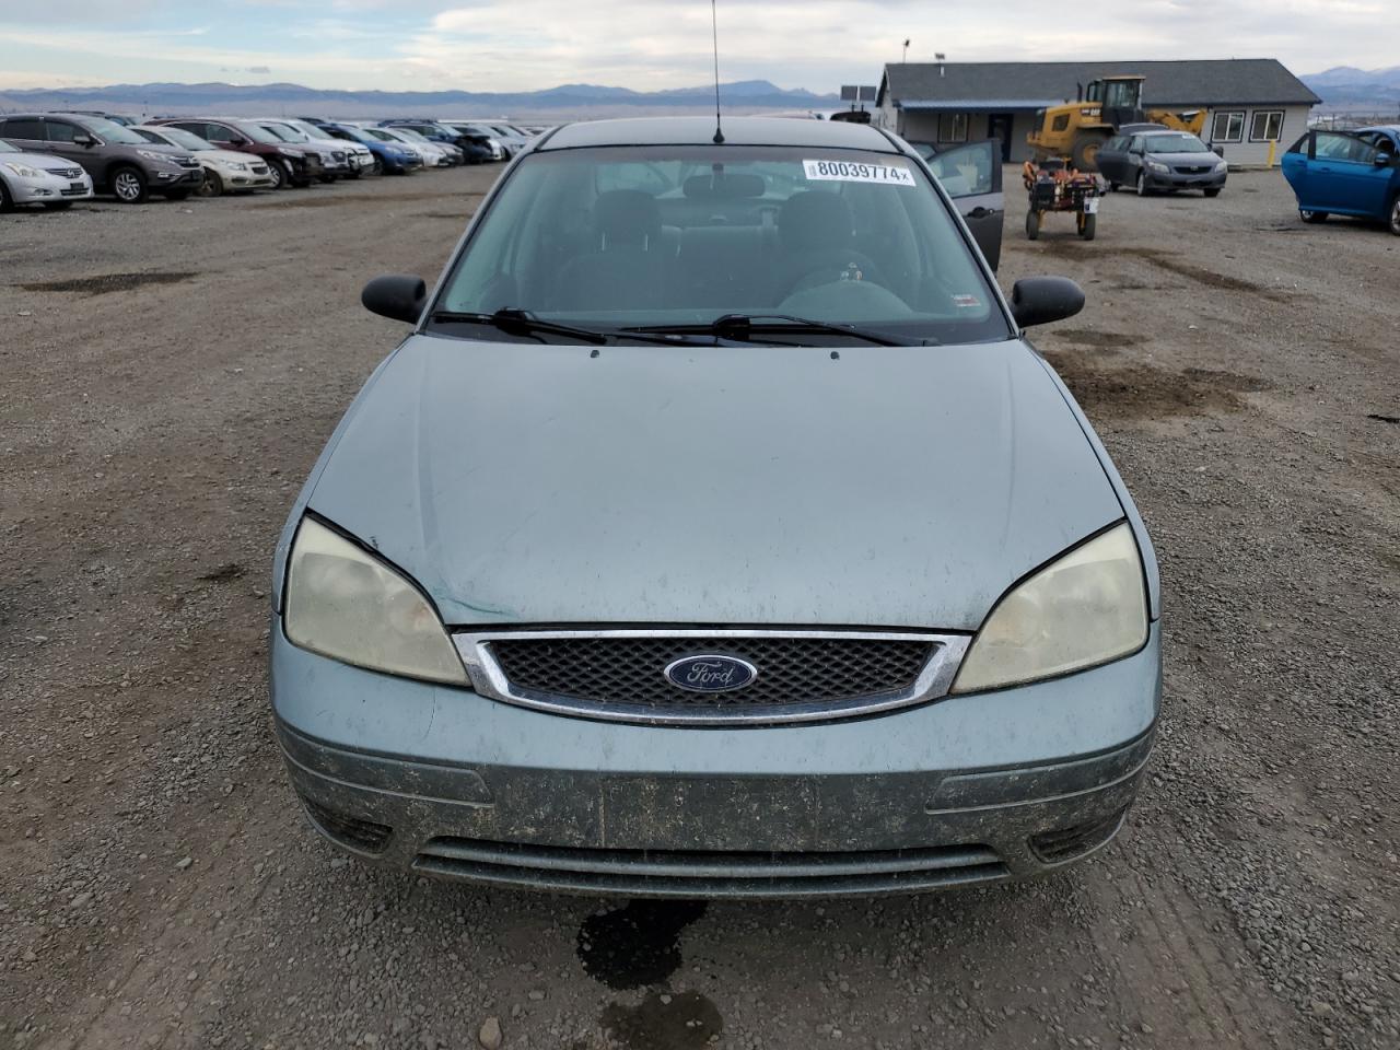
[[[1099,169],[1099,147],[1127,125],[1161,125],[1176,132],[1205,130],[1205,109],[1142,109],[1142,81],[1126,74],[1091,80],[1078,102],[1065,102],[1036,113],[1036,129],[1026,136],[1037,161],[1063,157],[1079,171]]]

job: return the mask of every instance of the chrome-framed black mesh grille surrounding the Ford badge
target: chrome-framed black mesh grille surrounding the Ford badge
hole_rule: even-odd
[[[479,693],[616,721],[815,721],[942,696],[965,636],[885,631],[598,630],[456,636]],[[753,682],[727,693],[680,689],[672,662],[725,655]]]

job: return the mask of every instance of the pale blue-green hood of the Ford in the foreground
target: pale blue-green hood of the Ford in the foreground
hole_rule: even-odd
[[[410,337],[308,505],[449,624],[949,630],[1124,514],[1019,342],[591,350]]]

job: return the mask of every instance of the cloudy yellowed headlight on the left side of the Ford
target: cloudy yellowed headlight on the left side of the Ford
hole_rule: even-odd
[[[466,683],[442,620],[419,589],[368,552],[304,518],[287,567],[287,638],[389,675]]]

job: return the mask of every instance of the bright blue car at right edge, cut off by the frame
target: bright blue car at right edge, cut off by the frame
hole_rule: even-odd
[[[1282,167],[1305,223],[1376,218],[1400,237],[1400,127],[1308,132]]]

